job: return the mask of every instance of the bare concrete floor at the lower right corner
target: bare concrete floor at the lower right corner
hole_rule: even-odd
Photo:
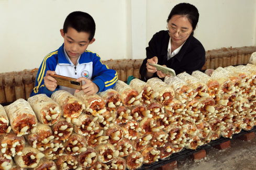
[[[185,157],[177,161],[179,170],[251,170],[256,169],[256,138],[249,142],[231,140],[231,147],[225,150],[209,148],[205,159],[192,161]]]

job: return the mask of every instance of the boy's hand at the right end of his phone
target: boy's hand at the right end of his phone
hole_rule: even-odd
[[[87,95],[91,95],[91,94],[96,94],[99,91],[98,86],[92,82],[89,79],[86,79],[85,77],[80,77],[79,79],[77,79],[76,81],[85,81],[85,84],[82,86],[82,89],[84,91],[84,93],[86,93]],[[80,92],[80,90],[75,90],[75,92]]]

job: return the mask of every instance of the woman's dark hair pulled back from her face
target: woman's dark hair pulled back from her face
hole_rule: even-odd
[[[197,8],[194,5],[188,3],[180,3],[175,5],[171,13],[168,16],[167,22],[172,18],[174,15],[180,15],[182,17],[186,17],[188,21],[190,21],[193,30],[196,29],[196,25],[199,19],[199,13]],[[194,31],[192,31],[191,35],[193,36]]]

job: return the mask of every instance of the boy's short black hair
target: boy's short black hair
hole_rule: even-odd
[[[68,32],[71,27],[77,32],[86,32],[90,34],[89,40],[91,41],[95,34],[95,22],[91,15],[82,11],[74,11],[66,17],[63,25],[64,34]]]

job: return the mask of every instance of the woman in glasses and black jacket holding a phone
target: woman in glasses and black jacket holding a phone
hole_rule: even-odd
[[[198,19],[199,13],[194,5],[181,3],[174,6],[167,19],[168,30],[155,33],[146,48],[147,58],[140,68],[142,80],[167,76],[149,63],[172,68],[176,75],[183,71],[192,74],[193,71],[202,69],[205,64],[205,49],[193,37]]]

